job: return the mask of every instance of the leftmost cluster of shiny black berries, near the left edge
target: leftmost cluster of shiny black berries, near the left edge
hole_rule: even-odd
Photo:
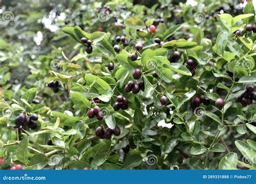
[[[22,113],[15,118],[15,128],[17,129],[22,126],[22,129],[24,130],[26,130],[27,127],[35,130],[37,128],[37,120],[38,116],[36,114],[31,114],[29,117],[27,117],[25,113]]]

